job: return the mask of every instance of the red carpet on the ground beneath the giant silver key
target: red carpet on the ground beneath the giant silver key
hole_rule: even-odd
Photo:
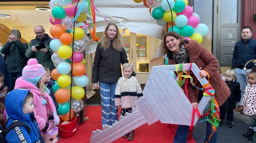
[[[58,143],[89,143],[92,131],[101,130],[101,106],[87,106],[85,117],[89,117],[89,120],[85,120],[82,125],[77,120],[74,136],[65,139],[60,138]],[[120,137],[113,143],[172,143],[174,134],[172,127],[158,121],[150,126],[144,124],[135,129],[135,136],[132,141]],[[192,138],[188,140],[188,143],[196,143],[196,141]]]

